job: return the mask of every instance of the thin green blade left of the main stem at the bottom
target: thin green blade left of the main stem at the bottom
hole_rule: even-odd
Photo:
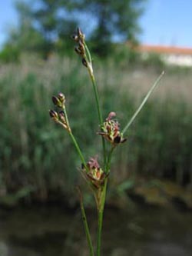
[[[81,214],[82,214],[82,219],[83,219],[83,223],[84,223],[84,231],[85,231],[86,238],[87,238],[87,241],[88,241],[90,256],[94,256],[94,248],[93,248],[93,244],[92,244],[92,241],[91,241],[91,234],[90,234],[90,231],[89,231],[89,228],[88,228],[88,220],[87,220],[87,217],[86,217],[86,214],[85,214],[85,211],[84,211],[83,198],[82,198],[81,191],[80,191],[79,188],[78,188],[78,194],[79,194],[79,197],[80,197]]]

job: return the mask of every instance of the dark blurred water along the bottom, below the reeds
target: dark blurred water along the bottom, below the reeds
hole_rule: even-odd
[[[88,211],[96,237],[96,213]],[[106,209],[102,256],[190,256],[192,214],[173,209]],[[25,208],[0,212],[0,256],[87,256],[79,211]]]

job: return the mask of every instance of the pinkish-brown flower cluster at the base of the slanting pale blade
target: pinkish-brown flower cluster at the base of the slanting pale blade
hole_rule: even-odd
[[[108,118],[106,118],[103,125],[101,125],[101,131],[98,132],[98,135],[110,141],[111,145],[117,145],[127,140],[123,138],[118,121],[113,119],[115,116],[115,112],[110,112]]]

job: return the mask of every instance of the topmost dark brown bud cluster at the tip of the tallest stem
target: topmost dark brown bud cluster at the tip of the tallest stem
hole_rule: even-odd
[[[84,34],[81,32],[80,28],[78,28],[77,32],[74,35],[72,35],[72,38],[74,39],[75,42],[78,43],[78,46],[74,48],[74,51],[81,56],[82,64],[87,68],[88,62],[87,62],[86,52],[84,48]]]

